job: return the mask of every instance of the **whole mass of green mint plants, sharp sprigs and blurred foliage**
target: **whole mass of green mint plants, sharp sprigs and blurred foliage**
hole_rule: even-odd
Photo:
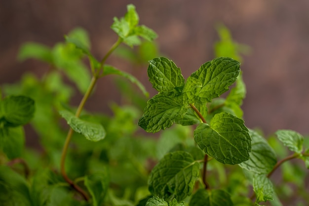
[[[26,73],[16,84],[1,85],[0,205],[280,206],[294,195],[291,183],[309,201],[302,187],[307,173],[289,161],[300,159],[309,168],[308,138],[278,130],[267,139],[242,119],[246,88],[239,54],[249,47],[234,42],[220,25],[217,57],[185,79],[173,61],[150,58],[157,55],[149,44],[156,34],[139,25],[134,5],[127,10],[114,18],[118,39],[100,60],[81,28],[51,48],[34,42],[21,47],[19,60],[35,58],[49,69],[41,77]],[[121,43],[140,48],[117,53]],[[146,102],[148,93],[136,77],[106,64],[114,52],[133,64],[152,59],[147,72],[158,94]],[[130,82],[118,79],[118,86],[136,105],[113,103],[113,115],[84,109],[97,81],[110,74]],[[77,106],[70,105],[75,92],[83,95]],[[27,123],[39,151],[25,146]],[[159,137],[147,137],[140,128],[160,131]],[[279,167],[282,181],[273,183]]]

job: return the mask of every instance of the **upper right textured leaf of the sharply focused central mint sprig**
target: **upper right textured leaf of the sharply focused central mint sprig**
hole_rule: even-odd
[[[198,79],[201,84],[199,97],[202,102],[211,102],[213,98],[229,90],[236,80],[240,63],[228,58],[218,57],[203,64],[191,77]]]

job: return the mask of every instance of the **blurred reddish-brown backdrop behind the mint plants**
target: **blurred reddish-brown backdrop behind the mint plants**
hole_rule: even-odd
[[[92,52],[102,58],[117,39],[110,29],[113,17],[123,16],[128,3],[136,6],[140,24],[158,34],[160,53],[172,59],[185,78],[214,58],[219,40],[215,27],[224,24],[235,41],[251,47],[241,63],[246,126],[266,134],[277,129],[309,134],[308,0],[0,0],[0,85],[19,81],[26,71],[42,75],[48,70],[39,61],[16,60],[22,43],[52,47],[76,27],[88,31]],[[147,65],[115,56],[108,63],[134,74],[150,96],[155,94]],[[113,84],[111,78],[99,80],[86,108],[109,112],[111,100],[121,101]],[[80,98],[77,93],[73,104]]]

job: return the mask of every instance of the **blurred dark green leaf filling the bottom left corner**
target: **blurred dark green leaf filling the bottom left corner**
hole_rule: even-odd
[[[6,166],[0,166],[0,204],[33,206],[26,179]]]

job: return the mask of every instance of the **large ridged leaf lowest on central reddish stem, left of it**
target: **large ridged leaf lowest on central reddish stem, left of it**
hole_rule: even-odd
[[[191,154],[177,151],[166,154],[154,166],[148,180],[149,191],[153,195],[171,201],[182,201],[191,195],[195,180],[199,176],[200,165]]]

